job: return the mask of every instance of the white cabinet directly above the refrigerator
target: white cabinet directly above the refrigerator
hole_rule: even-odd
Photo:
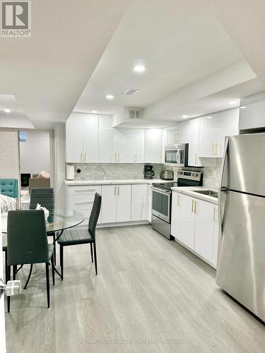
[[[263,101],[245,104],[245,109],[240,109],[240,130],[265,126],[265,95],[262,98]]]

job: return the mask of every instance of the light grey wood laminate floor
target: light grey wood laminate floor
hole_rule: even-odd
[[[45,267],[35,265],[6,313],[8,353],[265,352],[264,325],[175,241],[149,225],[98,229],[97,240],[98,276],[88,245],[64,249],[50,309]]]

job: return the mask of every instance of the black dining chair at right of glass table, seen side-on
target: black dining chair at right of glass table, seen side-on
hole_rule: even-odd
[[[57,240],[60,246],[61,280],[64,278],[64,246],[90,244],[91,261],[93,263],[93,253],[95,258],[95,274],[98,275],[97,250],[95,245],[95,227],[100,215],[101,195],[95,193],[93,208],[90,214],[88,229],[66,229]]]

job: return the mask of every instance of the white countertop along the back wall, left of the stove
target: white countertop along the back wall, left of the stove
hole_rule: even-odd
[[[71,185],[112,185],[112,184],[153,184],[163,183],[162,179],[102,179],[102,180],[65,180],[64,184]]]

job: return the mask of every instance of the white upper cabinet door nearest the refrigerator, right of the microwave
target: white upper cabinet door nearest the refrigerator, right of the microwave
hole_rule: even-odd
[[[225,136],[238,135],[239,109],[226,110],[216,113],[214,120],[216,122],[216,157],[223,157],[223,148],[225,145]]]

